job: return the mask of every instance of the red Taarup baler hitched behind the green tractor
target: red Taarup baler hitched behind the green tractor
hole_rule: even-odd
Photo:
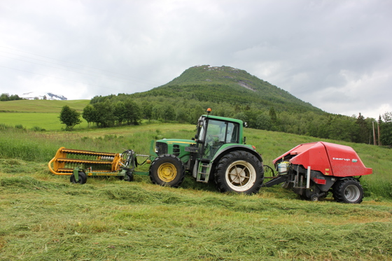
[[[353,148],[323,141],[300,144],[273,163],[279,174],[265,187],[284,183],[284,188],[312,201],[332,191],[337,202],[360,203],[363,188],[356,177],[372,174]]]

